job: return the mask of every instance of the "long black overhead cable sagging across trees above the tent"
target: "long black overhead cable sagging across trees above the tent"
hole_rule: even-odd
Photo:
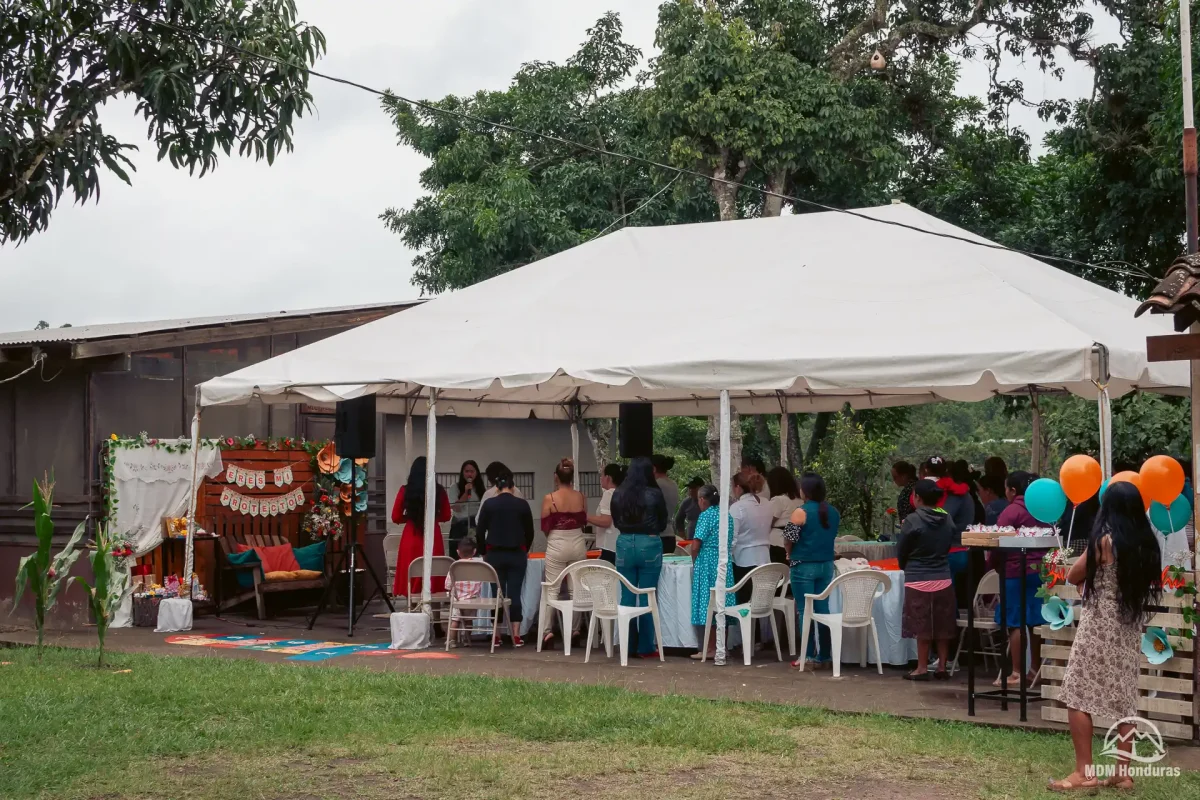
[[[292,68],[292,70],[302,70],[302,71],[307,72],[308,74],[316,76],[317,78],[322,78],[322,79],[329,80],[331,83],[338,83],[338,84],[342,84],[342,85],[346,85],[346,86],[352,86],[354,89],[359,89],[361,91],[365,91],[365,92],[368,92],[368,94],[372,94],[372,95],[377,95],[377,96],[383,97],[385,100],[401,101],[401,102],[408,103],[409,106],[415,106],[416,108],[424,109],[424,110],[426,110],[426,112],[428,112],[431,114],[442,114],[444,116],[452,116],[455,119],[466,120],[466,121],[469,121],[469,122],[475,122],[476,125],[486,125],[488,127],[498,128],[500,131],[508,131],[510,133],[520,133],[522,136],[533,137],[533,138],[536,138],[536,139],[544,139],[546,142],[553,142],[556,144],[568,145],[570,148],[575,148],[575,149],[578,149],[578,150],[586,150],[586,151],[589,151],[589,152],[594,152],[594,154],[601,155],[601,156],[608,156],[608,157],[612,157],[612,158],[618,158],[618,160],[631,162],[631,163],[640,163],[640,164],[644,164],[647,167],[654,167],[656,169],[664,169],[664,170],[674,173],[676,176],[688,175],[688,176],[691,176],[691,178],[698,178],[701,180],[714,182],[714,184],[722,184],[725,186],[733,186],[733,187],[737,187],[739,190],[748,190],[750,192],[757,192],[758,194],[762,194],[762,196],[766,196],[766,197],[780,198],[781,200],[787,200],[787,201],[793,203],[793,204],[804,205],[804,206],[809,206],[809,207],[812,207],[812,209],[820,209],[822,211],[833,211],[833,212],[836,212],[836,213],[845,213],[845,215],[848,215],[848,216],[852,216],[852,217],[857,217],[859,219],[865,219],[868,222],[875,222],[875,223],[878,223],[878,224],[892,225],[892,227],[895,227],[895,228],[904,228],[906,230],[912,230],[912,231],[916,231],[916,233],[919,233],[919,234],[925,234],[925,235],[929,235],[929,236],[937,236],[940,239],[949,239],[949,240],[960,241],[960,242],[964,242],[964,243],[967,243],[967,245],[974,245],[976,247],[985,247],[988,249],[997,249],[997,251],[1003,251],[1003,252],[1008,252],[1008,253],[1019,253],[1021,255],[1028,255],[1030,258],[1040,259],[1043,261],[1058,261],[1058,263],[1062,263],[1062,264],[1070,264],[1073,266],[1080,266],[1080,267],[1085,267],[1085,269],[1088,269],[1088,270],[1102,270],[1102,271],[1106,271],[1106,272],[1114,272],[1116,275],[1122,275],[1122,276],[1126,276],[1126,277],[1138,278],[1140,281],[1158,281],[1158,278],[1156,278],[1154,276],[1150,275],[1145,270],[1141,270],[1139,272],[1133,272],[1130,270],[1120,270],[1120,269],[1116,269],[1116,267],[1112,267],[1112,266],[1106,266],[1106,265],[1103,265],[1103,264],[1092,264],[1090,261],[1081,261],[1081,260],[1078,260],[1078,259],[1074,259],[1074,258],[1067,258],[1064,255],[1048,255],[1048,254],[1044,254],[1044,253],[1036,253],[1036,252],[1032,252],[1032,251],[1020,249],[1018,247],[1008,247],[1006,245],[1000,245],[997,242],[980,241],[980,240],[977,240],[977,239],[970,239],[967,236],[959,236],[958,234],[950,234],[950,233],[944,233],[944,231],[940,231],[940,230],[930,230],[928,228],[922,228],[919,225],[913,225],[913,224],[910,224],[907,222],[900,222],[898,219],[880,219],[877,217],[870,216],[869,213],[863,213],[862,211],[853,211],[851,209],[840,209],[838,206],[827,205],[824,203],[818,203],[817,200],[809,200],[809,199],[805,199],[805,198],[802,198],[802,197],[796,197],[793,194],[784,194],[781,192],[773,192],[773,191],[763,188],[761,186],[754,186],[751,184],[743,184],[740,181],[730,180],[727,178],[715,178],[713,175],[706,175],[704,173],[701,173],[701,172],[695,170],[695,169],[688,169],[686,167],[674,167],[672,164],[666,164],[666,163],[662,163],[662,162],[659,162],[659,161],[654,161],[653,158],[646,158],[643,156],[632,156],[632,155],[629,155],[629,154],[617,152],[617,151],[613,151],[613,150],[605,150],[604,148],[598,148],[595,145],[586,144],[583,142],[572,142],[571,139],[564,139],[563,137],[554,136],[553,133],[542,133],[540,131],[532,131],[529,128],[523,128],[523,127],[520,127],[520,126],[509,125],[506,122],[497,122],[494,120],[487,120],[487,119],[484,119],[481,116],[476,116],[474,114],[468,114],[467,112],[458,112],[458,110],[454,110],[454,109],[449,109],[449,108],[440,108],[438,106],[433,106],[433,104],[426,103],[424,101],[412,100],[409,97],[404,97],[403,95],[397,95],[394,91],[384,91],[382,89],[374,89],[373,86],[367,86],[366,84],[358,83],[356,80],[350,80],[348,78],[338,78],[337,76],[331,76],[331,74],[328,74],[328,73],[324,73],[324,72],[318,72],[317,70],[313,70],[313,68],[311,68],[308,66],[302,65],[302,64],[298,64],[295,61],[287,61],[284,59],[278,59],[278,58],[276,58],[274,55],[266,55],[266,54],[263,54],[263,53],[254,53],[253,50],[247,50],[246,48],[244,48],[244,47],[241,47],[239,44],[234,44],[232,42],[224,42],[224,41],[221,41],[221,40],[209,38],[209,37],[202,36],[200,34],[197,34],[194,31],[190,31],[186,28],[180,28],[179,25],[175,25],[173,23],[163,22],[163,20],[160,20],[160,19],[145,19],[145,18],[140,18],[139,22],[146,22],[146,23],[150,23],[152,25],[158,25],[161,28],[167,28],[167,29],[173,30],[173,31],[175,31],[178,34],[182,34],[184,36],[188,36],[188,37],[194,38],[197,41],[205,42],[208,44],[212,44],[214,47],[224,47],[224,48],[228,48],[228,49],[230,49],[230,50],[233,50],[235,53],[240,53],[240,54],[242,54],[245,56],[248,56],[248,58],[252,58],[252,59],[258,59],[260,61],[268,61],[270,64],[275,64],[275,65],[281,66],[281,67],[288,67],[288,68]],[[636,209],[635,209],[635,211],[636,211]],[[619,222],[619,221],[620,219],[618,219],[617,222]],[[610,225],[610,228],[611,227],[612,225]]]

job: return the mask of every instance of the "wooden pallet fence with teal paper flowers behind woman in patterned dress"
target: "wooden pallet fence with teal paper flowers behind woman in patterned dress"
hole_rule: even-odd
[[[1189,575],[1187,581],[1195,581]],[[1069,584],[1055,587],[1054,595],[1067,601],[1078,601],[1079,590]],[[1160,603],[1154,608],[1150,620],[1144,626],[1163,628],[1183,628],[1183,616],[1180,608],[1186,597],[1176,597],[1174,591],[1164,590]],[[1062,679],[1067,672],[1067,660],[1070,657],[1072,643],[1075,639],[1075,626],[1086,612],[1075,606],[1075,622],[1060,631],[1050,630],[1049,625],[1037,628],[1043,639],[1042,657],[1042,718],[1050,722],[1067,722],[1067,708],[1058,702]],[[1177,636],[1168,637],[1175,649],[1175,657],[1162,664],[1151,664],[1141,656],[1141,669],[1138,676],[1138,715],[1150,720],[1159,733],[1170,739],[1193,740],[1196,738],[1198,721],[1194,714],[1195,681],[1193,679],[1193,661],[1195,642]],[[1116,720],[1093,717],[1097,730],[1108,730]]]

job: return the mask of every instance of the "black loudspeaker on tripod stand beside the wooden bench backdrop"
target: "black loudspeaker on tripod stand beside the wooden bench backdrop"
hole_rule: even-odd
[[[349,458],[352,461],[355,458],[374,458],[374,395],[367,395],[365,397],[358,397],[349,401],[340,401],[334,416],[334,446],[337,450],[337,455],[342,458]],[[317,606],[317,610],[314,610],[312,616],[308,619],[310,631],[313,625],[317,624],[317,618],[325,610],[325,604],[329,602],[329,593],[334,590],[335,578],[340,575],[346,576],[348,584],[347,636],[354,636],[354,625],[362,615],[362,612],[365,612],[371,604],[371,601],[374,600],[377,594],[383,597],[385,603],[388,603],[388,610],[392,613],[396,612],[396,607],[391,604],[391,597],[388,596],[383,583],[379,581],[379,576],[376,575],[374,567],[371,566],[371,561],[368,561],[366,554],[362,553],[362,546],[359,545],[359,516],[358,510],[355,509],[355,505],[358,504],[358,487],[354,486],[355,471],[356,469],[350,469],[350,516],[347,534],[344,536],[344,546],[342,547],[337,567],[334,570],[334,577],[325,583],[325,591],[322,593],[320,603]],[[366,479],[364,479],[364,492],[366,492],[367,488]],[[362,564],[366,570],[358,566],[359,558],[362,559]],[[354,603],[354,582],[358,576],[364,572],[370,576],[374,588],[371,590],[371,594],[367,595],[366,601],[362,603],[362,608],[356,609]]]

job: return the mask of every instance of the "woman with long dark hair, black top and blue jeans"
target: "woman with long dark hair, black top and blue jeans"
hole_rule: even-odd
[[[635,458],[610,505],[617,535],[617,571],[638,589],[656,588],[662,572],[662,531],[667,529],[667,504],[654,480],[649,458]],[[635,601],[636,597],[636,601]],[[646,604],[644,595],[620,590],[623,606]],[[637,626],[637,655],[656,658],[654,622],[648,614],[630,620]]]

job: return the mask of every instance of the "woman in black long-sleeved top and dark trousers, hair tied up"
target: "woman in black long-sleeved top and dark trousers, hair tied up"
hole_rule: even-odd
[[[512,494],[512,473],[504,470],[496,479],[498,494],[484,504],[479,512],[475,535],[484,560],[492,565],[500,582],[500,591],[511,601],[509,622],[512,626],[512,646],[521,640],[521,587],[524,584],[526,564],[533,545],[533,512],[529,504]],[[499,639],[499,632],[496,633]]]

